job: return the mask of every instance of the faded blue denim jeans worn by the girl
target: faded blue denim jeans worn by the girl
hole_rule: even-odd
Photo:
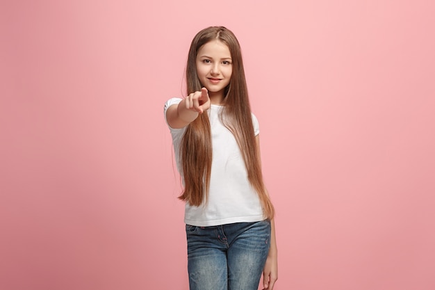
[[[270,221],[186,225],[190,290],[257,290],[270,248]]]

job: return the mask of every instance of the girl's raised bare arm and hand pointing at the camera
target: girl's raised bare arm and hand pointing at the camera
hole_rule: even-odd
[[[192,92],[178,105],[167,108],[167,124],[174,129],[186,127],[208,108],[210,108],[210,97],[207,89],[202,88],[200,91]]]

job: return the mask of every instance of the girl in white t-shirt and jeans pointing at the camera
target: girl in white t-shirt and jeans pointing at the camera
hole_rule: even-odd
[[[188,96],[165,104],[186,202],[190,290],[257,290],[277,280],[274,208],[263,184],[258,121],[240,45],[224,27],[199,31]]]

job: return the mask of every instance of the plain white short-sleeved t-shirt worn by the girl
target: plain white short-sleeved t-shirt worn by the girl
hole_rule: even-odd
[[[165,103],[165,120],[167,108],[179,102],[181,99],[172,98]],[[208,202],[199,207],[191,206],[186,202],[184,222],[188,225],[207,227],[264,220],[261,202],[247,179],[245,162],[236,138],[220,121],[221,108],[222,106],[212,104],[207,111],[213,146]],[[254,114],[252,114],[252,124],[255,135],[258,135],[258,120]],[[174,129],[169,124],[168,127],[172,134],[177,169],[183,178],[179,148],[186,127]]]

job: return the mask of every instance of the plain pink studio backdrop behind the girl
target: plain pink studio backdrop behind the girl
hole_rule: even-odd
[[[433,1],[1,1],[0,289],[188,289],[163,104],[243,47],[287,290],[435,289]]]

